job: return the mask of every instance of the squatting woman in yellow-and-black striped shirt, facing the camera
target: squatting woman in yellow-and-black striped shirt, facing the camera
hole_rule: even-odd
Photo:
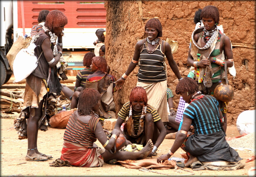
[[[152,139],[154,148],[148,155],[152,157],[163,142],[166,130],[155,108],[148,104],[147,93],[142,87],[134,87],[130,93],[129,102],[125,103],[118,113],[115,128],[126,137],[126,145],[137,143],[145,145]]]

